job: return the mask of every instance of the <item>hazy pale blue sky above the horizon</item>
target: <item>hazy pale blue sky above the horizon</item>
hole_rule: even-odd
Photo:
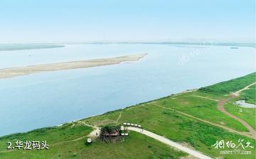
[[[255,0],[1,0],[0,43],[255,40]]]

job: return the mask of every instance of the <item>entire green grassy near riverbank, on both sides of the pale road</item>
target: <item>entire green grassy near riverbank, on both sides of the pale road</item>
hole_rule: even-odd
[[[220,140],[224,140],[225,142],[233,141],[233,143],[238,145],[239,138],[244,139],[245,142],[250,141],[252,146],[256,146],[256,142],[252,138],[230,133],[218,126],[213,126],[178,113],[178,111],[182,111],[191,116],[233,128],[236,131],[247,131],[238,121],[219,112],[216,109],[217,102],[215,99],[226,98],[230,92],[242,89],[252,82],[255,82],[255,73],[232,79],[228,82],[214,84],[198,91],[174,94],[153,102],[129,106],[126,109],[111,111],[100,116],[83,119],[82,121],[97,126],[132,122],[141,124],[148,131],[166,136],[166,138],[200,150],[212,157],[255,158],[255,148],[247,149],[251,151],[252,154],[250,155],[221,155],[220,149],[215,149],[212,146],[216,141]],[[230,107],[230,109],[235,111],[235,107]],[[250,112],[250,114],[245,114],[245,116],[247,116],[248,123],[250,123],[249,121],[255,120],[255,112]],[[52,147],[48,151],[15,150],[14,152],[0,153],[0,158],[18,158],[18,156],[21,156],[21,158],[171,158],[171,156],[173,158],[179,158],[186,155],[168,148],[158,141],[133,132],[130,133],[127,140],[120,143],[106,144],[97,141],[92,146],[85,146],[85,141],[81,139],[70,143],[53,145],[55,143],[73,140],[74,138],[80,138],[91,131],[89,127],[76,123],[73,124],[75,125],[67,125],[67,130],[63,126],[56,127],[54,128],[55,133],[46,129],[43,133],[31,131],[18,134],[18,136],[2,137],[0,138],[0,150],[6,149],[6,142],[8,141],[33,140],[31,136],[35,137],[34,140],[42,139],[48,141]],[[68,138],[60,136],[68,132],[70,132]],[[73,135],[71,135],[72,132]],[[233,149],[225,148],[221,150]]]

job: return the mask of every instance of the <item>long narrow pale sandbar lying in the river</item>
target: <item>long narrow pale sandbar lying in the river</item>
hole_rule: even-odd
[[[145,55],[147,54],[143,53],[143,54],[136,54],[136,55],[100,58],[100,59],[93,59],[93,60],[79,60],[79,61],[70,61],[70,62],[42,64],[42,65],[31,65],[31,66],[25,66],[25,67],[4,68],[4,69],[0,69],[0,79],[30,75],[30,74],[39,73],[39,72],[50,72],[50,71],[70,70],[70,69],[78,69],[78,68],[86,68],[86,67],[97,67],[97,66],[103,66],[103,65],[114,65],[114,64],[119,64],[121,62],[137,61],[142,57],[144,57]]]

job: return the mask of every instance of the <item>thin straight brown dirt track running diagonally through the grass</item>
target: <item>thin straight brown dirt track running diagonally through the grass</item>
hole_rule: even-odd
[[[236,131],[236,130],[234,130],[233,128],[229,128],[229,127],[227,127],[227,126],[223,126],[223,125],[220,125],[220,124],[215,124],[215,123],[212,123],[212,122],[210,122],[210,121],[206,121],[206,120],[200,119],[200,118],[198,118],[198,117],[196,117],[196,116],[191,116],[190,114],[183,113],[182,111],[177,111],[176,109],[166,108],[166,107],[164,107],[164,106],[161,106],[161,105],[155,104],[155,103],[151,103],[151,104],[153,104],[153,105],[155,105],[155,106],[159,106],[159,107],[161,107],[162,109],[169,109],[169,110],[175,111],[175,112],[177,112],[177,113],[179,113],[179,114],[182,114],[183,116],[188,116],[188,117],[190,117],[190,118],[192,118],[192,119],[196,119],[196,120],[198,120],[198,121],[202,121],[203,123],[206,123],[206,124],[210,124],[210,125],[213,125],[213,126],[218,126],[218,127],[223,128],[223,129],[225,129],[225,130],[227,130],[227,131],[229,131],[229,132],[231,132],[231,133],[236,133],[236,134],[238,134],[238,135],[240,135],[240,136],[246,136],[246,137],[248,137],[248,138],[254,138],[253,136],[251,136],[249,133],[246,133],[246,132]]]

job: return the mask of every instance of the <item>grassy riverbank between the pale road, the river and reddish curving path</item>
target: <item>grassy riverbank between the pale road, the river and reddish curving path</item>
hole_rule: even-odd
[[[239,138],[244,138],[245,141],[250,141],[254,146],[255,140],[229,133],[222,128],[203,123],[196,119],[191,119],[171,110],[182,111],[191,116],[220,124],[236,131],[247,131],[238,121],[218,111],[218,109],[216,109],[217,102],[215,100],[227,98],[230,92],[238,91],[253,82],[255,82],[255,73],[227,82],[220,82],[219,84],[214,84],[195,92],[175,94],[170,97],[158,99],[154,102],[147,102],[127,109],[113,111],[102,116],[85,119],[85,122],[99,126],[110,123],[114,124],[116,122],[115,119],[117,119],[122,112],[122,116],[118,121],[120,124],[122,122],[142,124],[142,126],[149,131],[158,133],[161,136],[166,136],[177,142],[188,143],[196,150],[200,150],[213,157],[255,158],[255,149],[252,149],[252,155],[242,156],[220,155],[220,150],[211,147],[217,140],[238,143]],[[235,107],[232,109],[235,109]],[[248,121],[255,121],[255,111],[252,109],[247,109],[247,111],[251,112],[251,114],[248,114],[249,116],[245,114]],[[225,150],[228,150],[228,148]]]

